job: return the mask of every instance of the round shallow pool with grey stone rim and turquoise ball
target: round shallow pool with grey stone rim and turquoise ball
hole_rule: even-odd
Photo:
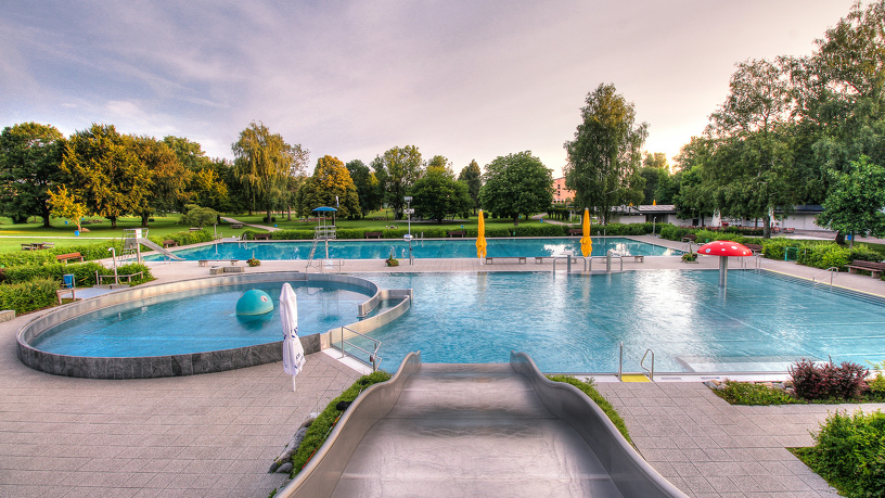
[[[104,294],[35,318],[18,332],[18,357],[37,370],[93,379],[188,375],[280,361],[284,282],[298,298],[307,354],[328,347],[331,330],[371,331],[411,303],[408,290],[385,291],[350,276],[284,272],[185,280]],[[251,289],[270,295],[274,309],[238,316],[236,302]]]

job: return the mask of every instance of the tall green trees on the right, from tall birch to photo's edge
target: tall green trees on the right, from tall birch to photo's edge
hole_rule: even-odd
[[[885,234],[885,1],[848,15],[809,56],[738,64],[726,101],[676,157],[640,151],[647,124],[600,85],[565,143],[576,204],[607,219],[612,206],[672,203],[684,218],[762,219],[822,204],[821,226]]]

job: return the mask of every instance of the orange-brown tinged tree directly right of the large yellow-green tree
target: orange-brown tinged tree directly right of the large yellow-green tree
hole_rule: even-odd
[[[175,151],[153,137],[130,137],[130,146],[150,173],[148,204],[139,213],[141,226],[148,227],[153,213],[171,213],[181,209],[187,200],[185,188],[191,171],[179,161]]]

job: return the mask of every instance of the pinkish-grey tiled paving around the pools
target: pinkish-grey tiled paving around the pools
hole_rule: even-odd
[[[682,248],[652,237],[637,239]],[[732,261],[732,268],[738,265]],[[809,279],[820,271],[768,259],[761,265]],[[701,257],[687,265],[678,257],[646,257],[624,267],[714,269],[718,261]],[[209,277],[196,261],[152,263],[151,268],[158,282]],[[265,261],[245,271],[281,270],[303,271],[304,263]],[[382,260],[348,260],[343,268],[390,270]],[[552,264],[420,259],[412,266],[403,260],[394,270],[551,271]],[[885,282],[870,277],[841,273],[834,284],[885,296]],[[280,363],[169,379],[62,378],[31,370],[15,356],[15,333],[35,316],[0,323],[3,497],[267,497],[285,480],[267,470],[297,425],[359,376],[319,353],[308,357],[295,393]],[[835,410],[885,408],[736,407],[700,382],[598,385],[624,417],[643,457],[694,497],[836,496],[785,448],[811,445],[810,431]]]

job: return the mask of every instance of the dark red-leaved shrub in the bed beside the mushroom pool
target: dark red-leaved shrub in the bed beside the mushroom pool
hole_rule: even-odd
[[[867,388],[869,371],[860,365],[843,361],[818,367],[804,359],[790,367],[796,396],[803,399],[856,399]]]

